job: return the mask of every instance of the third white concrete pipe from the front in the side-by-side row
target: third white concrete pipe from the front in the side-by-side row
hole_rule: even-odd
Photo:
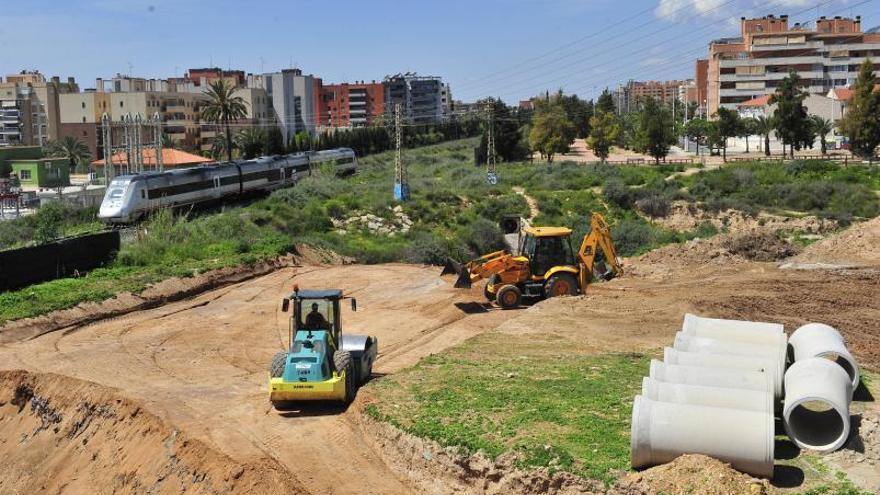
[[[775,389],[770,375],[761,371],[679,366],[664,364],[656,359],[651,360],[651,374],[649,376],[658,382],[757,390],[770,395],[773,395]]]

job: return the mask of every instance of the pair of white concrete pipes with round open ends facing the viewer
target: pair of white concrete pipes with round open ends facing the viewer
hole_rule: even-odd
[[[832,452],[850,433],[849,407],[859,366],[835,328],[808,323],[791,334],[793,363],[785,373],[782,420],[804,449]]]

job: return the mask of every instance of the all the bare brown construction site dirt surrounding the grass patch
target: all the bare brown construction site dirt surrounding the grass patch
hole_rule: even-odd
[[[586,296],[518,311],[487,307],[481,287],[453,289],[437,267],[308,265],[113,318],[7,325],[0,329],[0,493],[600,493],[601,484],[558,473],[511,481],[515,465],[476,469],[448,452],[444,464],[446,451],[406,440],[364,410],[381,400],[383,377],[477,335],[496,337],[486,341],[497,349],[481,349],[489,354],[534,339],[553,342],[559,354],[652,356],[671,344],[686,312],[780,322],[788,331],[825,322],[876,372],[880,248],[870,239],[880,237],[880,223],[856,229],[814,244],[784,268],[720,255],[714,244],[671,246],[629,260],[629,275],[591,286]],[[268,364],[287,338],[279,303],[294,283],[357,297],[358,311],[344,311],[345,330],[378,337],[378,379],[347,409],[277,412],[267,400]],[[797,492],[841,470],[880,490],[876,381],[870,388],[854,406],[864,435],[818,463],[778,448],[779,476],[766,488]],[[685,471],[693,464],[682,461]],[[668,492],[681,486],[670,476],[643,473],[629,491],[617,489]]]

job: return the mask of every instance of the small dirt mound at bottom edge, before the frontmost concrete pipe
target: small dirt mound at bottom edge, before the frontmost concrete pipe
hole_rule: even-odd
[[[761,495],[768,493],[769,484],[740,473],[717,459],[683,455],[668,464],[627,475],[621,481],[620,489],[641,489],[644,493],[668,495]]]

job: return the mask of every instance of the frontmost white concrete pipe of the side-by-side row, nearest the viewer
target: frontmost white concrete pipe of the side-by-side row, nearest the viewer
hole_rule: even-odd
[[[773,414],[658,402],[637,395],[630,452],[634,468],[704,454],[739,471],[773,476]]]

